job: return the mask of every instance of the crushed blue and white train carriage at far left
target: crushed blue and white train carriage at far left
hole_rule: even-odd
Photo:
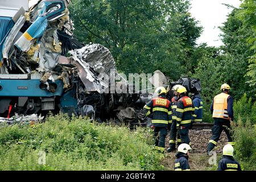
[[[67,49],[82,47],[71,37],[68,4],[39,1],[28,9],[27,0],[1,2],[1,116],[56,111],[56,106],[65,104],[67,82],[63,80],[72,68],[65,70],[58,60]]]

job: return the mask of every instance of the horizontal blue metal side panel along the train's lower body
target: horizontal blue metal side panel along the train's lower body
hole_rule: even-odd
[[[0,97],[52,97],[63,94],[63,81],[56,80],[55,93],[40,89],[39,79],[32,80],[0,80]]]

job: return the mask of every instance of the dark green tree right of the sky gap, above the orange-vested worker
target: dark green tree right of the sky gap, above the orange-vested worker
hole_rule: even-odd
[[[251,57],[254,55],[254,50],[251,49],[252,45],[247,42],[248,38],[253,35],[253,31],[244,28],[243,21],[238,18],[241,11],[243,9],[234,9],[229,14],[224,26],[221,27],[222,42],[225,45],[222,47],[225,55],[225,64],[223,65],[225,81],[230,82],[236,99],[241,98],[243,93],[255,98],[256,93],[255,85],[249,86],[253,80],[250,77],[245,77]]]

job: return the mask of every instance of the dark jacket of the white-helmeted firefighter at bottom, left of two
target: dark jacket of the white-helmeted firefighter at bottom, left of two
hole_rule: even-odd
[[[177,159],[175,159],[174,171],[191,171],[188,164],[188,155],[177,152],[175,156]]]

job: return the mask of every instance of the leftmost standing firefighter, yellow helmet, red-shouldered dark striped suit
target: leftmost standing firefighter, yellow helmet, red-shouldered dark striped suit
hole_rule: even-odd
[[[164,152],[168,123],[172,122],[171,102],[166,98],[166,89],[159,87],[155,90],[158,95],[152,98],[144,106],[147,117],[152,118],[152,129],[154,129],[155,147],[158,151]]]

